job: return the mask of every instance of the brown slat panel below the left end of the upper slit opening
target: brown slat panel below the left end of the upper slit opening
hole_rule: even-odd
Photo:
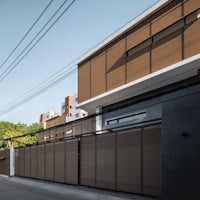
[[[150,52],[127,62],[127,82],[134,81],[150,73]]]

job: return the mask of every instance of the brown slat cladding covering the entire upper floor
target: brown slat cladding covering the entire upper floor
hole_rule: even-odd
[[[127,33],[124,33],[124,37],[126,37],[125,39],[120,40],[120,37],[123,37],[122,35],[120,35],[119,37],[116,37],[115,41],[113,41],[112,44],[110,43],[107,45],[107,47],[104,46],[102,49],[100,49],[99,52],[97,51],[94,55],[90,57],[90,60],[87,59],[88,63],[92,62],[92,73],[88,71],[87,75],[82,76],[81,71],[84,70],[83,68],[85,67],[85,65],[85,68],[87,68],[87,64],[83,64],[79,67],[79,88],[80,90],[82,90],[79,91],[79,103],[93,98],[97,95],[103,94],[111,89],[117,88],[130,81],[141,78],[142,76],[147,75],[150,71],[155,72],[157,70],[168,67],[169,65],[174,64],[181,59],[185,59],[192,55],[198,54],[200,52],[198,22],[195,22],[192,26],[188,25],[185,30],[185,38],[181,38],[181,29],[183,29],[185,20],[183,19],[183,17],[187,16],[197,9],[200,9],[199,0],[185,0],[184,3],[181,0],[169,1],[156,13],[153,13],[147,19],[144,19],[135,27],[132,27],[132,29],[130,28],[129,30],[127,30]],[[185,22],[188,23],[188,20],[191,19],[186,19]],[[178,21],[179,23],[174,24]],[[167,27],[169,26],[171,27],[168,29]],[[170,31],[172,31],[170,34],[175,34],[173,33],[173,31],[180,31],[180,37],[168,37],[168,32]],[[157,45],[157,48],[155,48],[156,44],[154,43],[160,43],[159,40],[163,40],[164,37],[166,37],[165,43],[163,43],[162,45],[160,44],[160,46]],[[126,63],[125,52],[123,55],[124,44],[121,44],[121,42],[126,40],[125,51],[127,52],[132,48],[137,47],[137,45],[142,44],[149,38],[152,39],[153,42],[152,63],[149,63],[149,58],[147,58],[148,56],[144,55],[145,53],[147,53],[147,51],[144,51],[139,56],[134,55],[135,57],[132,59],[128,57],[127,68],[125,69],[123,65],[123,63]],[[116,43],[117,40],[120,41]],[[184,44],[185,49],[183,51],[185,52],[182,52],[182,43]],[[149,48],[150,46],[151,45],[149,45]],[[140,47],[141,46],[139,46],[138,48]],[[107,53],[104,52],[100,54],[100,52],[102,52],[103,50],[107,51]],[[135,54],[134,52],[132,53]],[[118,63],[118,65],[116,65],[116,63]],[[137,66],[132,68],[132,65]],[[112,70],[113,66],[115,66],[114,70]],[[149,66],[152,66],[152,69],[150,69]],[[107,73],[104,71],[105,67],[107,67]],[[92,82],[91,84],[88,82],[87,87],[82,88],[85,76],[88,77],[88,80],[91,79]],[[124,77],[126,77],[125,81]],[[91,96],[84,96],[85,91],[88,94],[91,92]]]

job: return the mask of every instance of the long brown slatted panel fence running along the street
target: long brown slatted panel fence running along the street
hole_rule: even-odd
[[[161,127],[144,126],[15,150],[15,175],[160,195]]]

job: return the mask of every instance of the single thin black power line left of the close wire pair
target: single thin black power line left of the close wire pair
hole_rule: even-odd
[[[32,26],[29,28],[29,30],[25,33],[25,35],[22,37],[22,39],[19,41],[17,46],[12,50],[12,52],[6,57],[6,59],[3,61],[3,63],[0,66],[0,69],[4,66],[4,64],[8,61],[8,59],[13,55],[13,53],[16,51],[16,49],[21,45],[21,43],[24,41],[26,36],[31,32],[31,30],[34,28],[34,26],[37,24],[37,22],[40,20],[40,18],[44,15],[46,10],[49,8],[49,6],[52,4],[53,0],[51,0],[48,5],[45,7],[45,9],[42,11],[42,13],[39,15],[39,17],[35,20],[35,22],[32,24]]]

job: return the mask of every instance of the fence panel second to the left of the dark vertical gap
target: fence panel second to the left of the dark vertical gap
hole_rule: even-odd
[[[65,142],[55,143],[55,181],[65,181]]]

